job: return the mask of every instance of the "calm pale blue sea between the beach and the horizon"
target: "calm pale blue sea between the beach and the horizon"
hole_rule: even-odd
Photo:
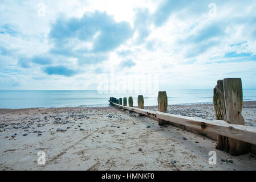
[[[212,103],[212,89],[168,90],[168,105]],[[0,108],[22,109],[32,107],[94,107],[108,106],[109,97],[133,97],[138,94],[100,94],[96,90],[76,91],[0,91]],[[256,89],[244,89],[243,101],[256,101]],[[144,105],[157,105],[157,96],[145,96]]]

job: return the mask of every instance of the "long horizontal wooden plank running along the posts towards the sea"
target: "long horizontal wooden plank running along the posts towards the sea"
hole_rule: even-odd
[[[113,102],[111,102],[111,104],[123,109],[135,111],[136,113],[145,114],[150,117],[164,119],[165,121],[202,130],[204,131],[204,133],[214,133],[218,135],[223,135],[225,137],[242,140],[247,143],[256,144],[256,129],[254,127],[244,125],[231,125],[226,121],[222,120],[207,120],[202,118],[162,113],[160,111],[139,109],[137,107],[122,106]]]

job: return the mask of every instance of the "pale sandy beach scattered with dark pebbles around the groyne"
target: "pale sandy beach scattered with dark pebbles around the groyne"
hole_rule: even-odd
[[[255,111],[255,101],[243,103],[247,126],[256,127]],[[168,113],[215,118],[211,104],[172,105]],[[254,154],[234,157],[215,146],[215,140],[114,106],[0,110],[1,170],[256,170]],[[39,151],[46,154],[44,165],[37,162]],[[216,165],[208,163],[209,151],[217,152]]]

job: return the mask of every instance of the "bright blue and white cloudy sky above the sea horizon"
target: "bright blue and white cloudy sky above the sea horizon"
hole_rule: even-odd
[[[256,88],[256,2],[0,2],[0,90],[94,90],[114,74],[159,87]]]

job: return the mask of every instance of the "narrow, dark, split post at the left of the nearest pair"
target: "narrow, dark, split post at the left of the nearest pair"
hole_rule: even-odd
[[[213,89],[213,106],[215,118],[226,121],[226,107],[224,100],[223,80],[218,80],[217,85]],[[217,150],[229,152],[229,140],[227,137],[217,136]]]

